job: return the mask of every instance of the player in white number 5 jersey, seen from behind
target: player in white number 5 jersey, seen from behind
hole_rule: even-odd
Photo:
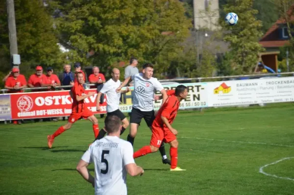
[[[107,116],[107,136],[96,140],[76,167],[82,177],[95,188],[95,195],[127,195],[126,174],[136,176],[144,173],[135,164],[132,145],[120,139],[121,128],[120,118]],[[94,163],[95,178],[87,169],[90,163]]]

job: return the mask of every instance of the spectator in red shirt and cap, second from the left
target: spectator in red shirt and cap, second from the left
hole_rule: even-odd
[[[47,78],[45,74],[43,74],[43,68],[42,66],[36,67],[36,73],[30,75],[27,85],[28,87],[42,87],[42,84],[45,84],[47,82]],[[40,92],[44,90],[32,90],[32,92]]]

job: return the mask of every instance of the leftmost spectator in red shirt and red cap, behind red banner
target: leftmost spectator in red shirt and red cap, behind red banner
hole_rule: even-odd
[[[26,80],[23,74],[20,74],[18,68],[12,69],[11,76],[5,81],[5,88],[8,89],[8,93],[22,93],[22,89],[26,88]],[[21,124],[21,120],[13,121],[14,124]]]

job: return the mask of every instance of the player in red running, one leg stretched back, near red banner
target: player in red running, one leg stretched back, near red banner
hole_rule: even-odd
[[[65,125],[59,127],[57,131],[55,131],[55,133],[53,133],[52,135],[47,136],[49,148],[52,147],[55,137],[70,129],[73,123],[80,118],[88,119],[89,121],[91,121],[93,123],[94,136],[95,138],[98,136],[98,120],[84,104],[84,99],[93,96],[95,92],[89,92],[88,94],[85,94],[85,89],[83,87],[83,73],[76,73],[76,78],[77,82],[74,83],[73,88],[71,89],[71,95],[73,98],[72,114],[69,117],[69,121]]]

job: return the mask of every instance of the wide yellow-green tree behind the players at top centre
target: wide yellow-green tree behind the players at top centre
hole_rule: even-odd
[[[191,26],[175,0],[52,0],[50,8],[70,58],[102,70],[131,56],[159,64],[163,53],[175,53]],[[87,58],[90,50],[95,54]]]

